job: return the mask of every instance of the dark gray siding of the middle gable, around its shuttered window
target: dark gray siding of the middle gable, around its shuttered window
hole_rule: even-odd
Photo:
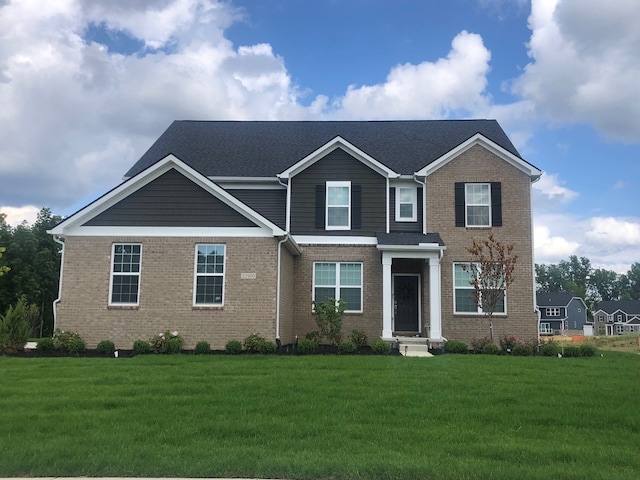
[[[361,187],[361,227],[351,230],[316,228],[316,185],[350,181]],[[386,232],[386,179],[342,149],[336,149],[294,176],[291,188],[291,233],[294,235],[374,236]]]

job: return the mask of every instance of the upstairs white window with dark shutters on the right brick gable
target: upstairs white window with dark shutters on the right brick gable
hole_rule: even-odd
[[[500,182],[455,184],[456,227],[502,226]]]

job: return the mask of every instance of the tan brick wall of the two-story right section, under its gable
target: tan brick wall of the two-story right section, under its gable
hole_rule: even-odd
[[[455,226],[455,182],[502,182],[502,227]],[[528,340],[537,336],[534,311],[531,181],[529,176],[480,146],[474,146],[427,177],[427,231],[438,232],[447,249],[442,259],[442,331],[449,339],[469,342],[489,336],[483,315],[453,313],[453,262],[469,261],[466,248],[472,238],[489,233],[502,243],[513,243],[518,255],[515,280],[507,288],[507,315],[493,318],[494,340],[514,335]]]

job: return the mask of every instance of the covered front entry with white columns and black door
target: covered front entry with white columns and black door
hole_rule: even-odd
[[[419,335],[441,342],[440,259],[445,247],[440,236],[386,233],[378,234],[377,240],[382,252],[382,338]],[[398,267],[407,261],[420,265],[424,273],[400,270]],[[428,309],[421,303],[421,279],[428,279]],[[428,325],[422,325],[423,311],[428,312]]]

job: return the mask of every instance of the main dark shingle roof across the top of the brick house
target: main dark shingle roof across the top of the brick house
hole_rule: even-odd
[[[476,133],[520,157],[495,120],[175,121],[125,176],[173,154],[206,176],[274,177],[336,136],[413,174]]]

